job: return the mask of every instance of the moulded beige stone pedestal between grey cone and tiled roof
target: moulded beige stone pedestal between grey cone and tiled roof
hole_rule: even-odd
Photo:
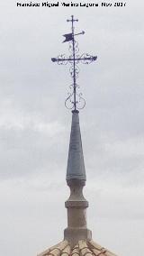
[[[70,187],[70,197],[65,203],[67,208],[67,228],[64,231],[64,238],[75,246],[79,240],[91,240],[92,232],[86,226],[86,208],[88,202],[83,196],[84,180],[71,179],[67,181]]]

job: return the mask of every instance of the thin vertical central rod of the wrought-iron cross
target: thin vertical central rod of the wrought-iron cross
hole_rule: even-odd
[[[76,59],[75,59],[75,38],[74,38],[74,16],[72,15],[72,42],[73,42],[73,59],[74,59],[74,111],[76,111]]]

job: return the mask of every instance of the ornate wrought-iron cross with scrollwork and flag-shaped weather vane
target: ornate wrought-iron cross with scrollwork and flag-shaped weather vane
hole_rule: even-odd
[[[71,92],[68,93],[67,99],[65,101],[65,105],[68,109],[72,109],[73,112],[78,112],[78,109],[82,109],[85,107],[85,99],[82,97],[82,93],[78,92],[79,86],[76,83],[76,79],[78,78],[79,68],[77,66],[78,63],[89,64],[97,59],[97,56],[91,56],[87,53],[79,54],[78,43],[75,39],[77,35],[84,34],[85,32],[75,33],[74,23],[78,22],[77,19],[74,19],[74,15],[71,16],[71,20],[67,20],[67,22],[71,22],[71,32],[64,34],[65,40],[63,42],[69,41],[69,51],[70,56],[65,57],[64,54],[58,56],[58,58],[51,58],[53,62],[57,62],[58,65],[67,65],[70,63],[71,66],[69,68],[69,72],[71,78],[73,79],[72,85],[70,85]]]

